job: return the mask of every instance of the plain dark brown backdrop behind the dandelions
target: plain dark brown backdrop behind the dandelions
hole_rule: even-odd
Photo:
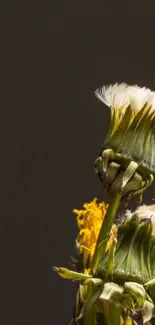
[[[110,114],[94,91],[116,81],[155,89],[150,1],[55,3],[0,5],[3,325],[68,324],[76,288],[52,265],[70,266],[72,209],[104,198],[93,162]]]

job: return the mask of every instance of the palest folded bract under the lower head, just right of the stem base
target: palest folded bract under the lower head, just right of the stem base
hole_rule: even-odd
[[[114,282],[107,282],[104,285],[100,299],[109,300],[115,296],[120,296],[123,292],[123,286],[120,286]]]

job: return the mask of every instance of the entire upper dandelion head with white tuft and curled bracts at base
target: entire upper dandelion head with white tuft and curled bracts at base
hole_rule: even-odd
[[[95,171],[110,192],[141,194],[155,174],[155,93],[147,88],[114,84],[96,96],[111,109],[105,150]]]

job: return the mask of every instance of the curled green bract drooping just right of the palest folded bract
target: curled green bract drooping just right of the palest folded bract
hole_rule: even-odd
[[[138,306],[141,308],[146,299],[146,291],[144,287],[136,282],[125,282],[124,287],[137,300]]]

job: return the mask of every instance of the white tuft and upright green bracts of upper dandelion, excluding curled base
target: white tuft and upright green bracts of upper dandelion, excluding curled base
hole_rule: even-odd
[[[133,160],[154,174],[155,92],[116,83],[97,89],[95,94],[111,108],[106,147],[113,150],[116,160]]]

